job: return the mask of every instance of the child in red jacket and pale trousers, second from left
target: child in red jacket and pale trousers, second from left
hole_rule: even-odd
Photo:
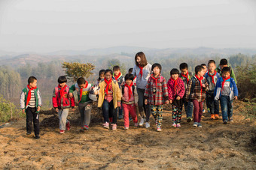
[[[59,114],[59,133],[65,133],[70,130],[70,122],[67,119],[69,108],[75,111],[75,98],[69,98],[69,86],[66,85],[66,76],[59,76],[59,85],[53,90],[53,108]]]

